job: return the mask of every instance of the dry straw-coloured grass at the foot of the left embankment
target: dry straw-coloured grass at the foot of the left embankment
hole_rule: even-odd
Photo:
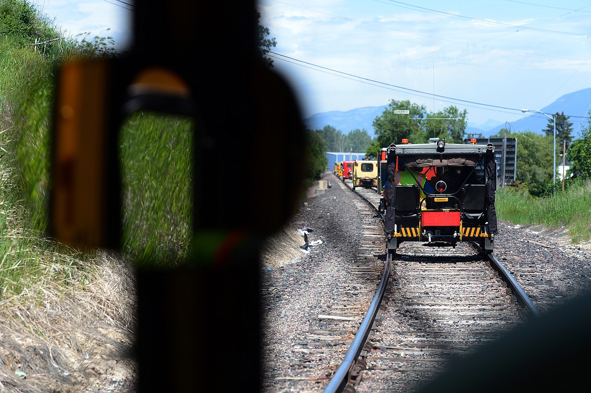
[[[72,261],[67,279],[51,279],[63,266],[41,262],[48,279],[0,302],[0,392],[82,392],[135,379],[131,265],[96,251]]]

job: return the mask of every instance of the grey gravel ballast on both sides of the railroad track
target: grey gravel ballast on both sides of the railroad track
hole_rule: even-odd
[[[331,376],[311,373],[317,365],[296,349],[308,339],[311,327],[339,323],[317,316],[327,313],[339,292],[342,272],[358,255],[362,222],[353,204],[355,196],[340,187],[332,173],[323,179],[332,188],[317,196],[314,190],[309,193],[262,254],[264,392],[320,392]],[[301,251],[304,240],[297,234],[304,227],[313,228],[309,241],[322,240],[309,253]],[[573,245],[561,231],[501,222],[495,243],[496,257],[542,313],[579,296],[591,284],[591,244]],[[323,361],[338,365],[346,349],[341,345],[327,351]]]

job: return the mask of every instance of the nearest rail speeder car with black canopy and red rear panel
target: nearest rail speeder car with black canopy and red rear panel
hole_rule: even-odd
[[[384,192],[389,252],[404,241],[453,246],[474,241],[483,253],[492,252],[497,231],[494,148],[471,142],[434,138],[389,146]]]

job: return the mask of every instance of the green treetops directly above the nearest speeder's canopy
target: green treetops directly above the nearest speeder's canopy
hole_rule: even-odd
[[[394,113],[395,109],[407,109],[409,114]],[[450,106],[437,113],[429,113],[423,105],[409,100],[391,100],[381,116],[374,119],[374,129],[379,145],[401,143],[427,143],[430,137],[440,137],[448,142],[461,143],[466,130],[467,111]]]

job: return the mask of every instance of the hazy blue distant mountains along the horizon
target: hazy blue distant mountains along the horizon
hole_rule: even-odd
[[[375,136],[372,123],[377,116],[384,113],[388,105],[366,106],[362,108],[351,109],[347,111],[332,110],[330,112],[316,113],[304,119],[304,125],[311,130],[320,130],[324,126],[333,126],[343,133],[349,133],[352,130],[365,129],[371,137]],[[545,113],[562,113],[567,116],[587,116],[591,107],[591,88],[574,91],[564,94],[553,103],[540,109]],[[542,133],[548,123],[548,117],[542,114],[529,112],[530,116],[523,117],[515,122],[505,124],[497,120],[488,120],[482,125],[476,125],[468,122],[467,133],[482,134],[483,137],[495,135],[502,128],[508,127],[513,132],[532,131]],[[587,125],[587,119],[579,117],[570,117],[569,121],[573,123],[573,136],[580,136],[580,129]]]

